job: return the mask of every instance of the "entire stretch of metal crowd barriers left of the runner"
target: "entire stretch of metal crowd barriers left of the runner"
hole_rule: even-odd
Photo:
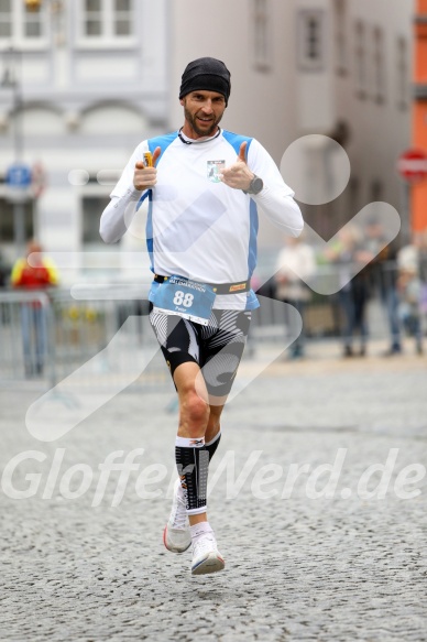
[[[74,298],[65,290],[0,292],[0,380],[53,388],[172,385],[147,318],[147,302]],[[136,295],[136,294],[135,294]],[[150,357],[150,358],[149,358]]]

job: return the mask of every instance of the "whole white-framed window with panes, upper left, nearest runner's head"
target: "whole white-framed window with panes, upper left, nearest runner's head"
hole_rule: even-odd
[[[81,0],[81,35],[106,41],[133,36],[133,0]]]

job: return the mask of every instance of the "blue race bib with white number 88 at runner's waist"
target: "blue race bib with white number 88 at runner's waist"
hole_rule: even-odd
[[[206,283],[173,275],[157,287],[154,308],[207,326],[216,294]]]

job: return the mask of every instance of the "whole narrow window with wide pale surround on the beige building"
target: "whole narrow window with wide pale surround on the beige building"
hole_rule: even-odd
[[[325,12],[321,9],[299,12],[298,67],[319,72],[325,64]]]

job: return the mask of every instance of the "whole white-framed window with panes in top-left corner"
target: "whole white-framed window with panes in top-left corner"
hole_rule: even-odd
[[[23,1],[0,0],[0,46],[36,44],[46,40],[45,3],[31,10]]]

